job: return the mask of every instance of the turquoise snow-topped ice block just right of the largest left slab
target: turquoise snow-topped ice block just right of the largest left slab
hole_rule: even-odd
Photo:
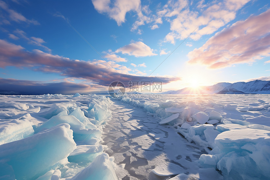
[[[80,145],[70,153],[67,159],[69,162],[93,161],[102,152],[103,145]]]

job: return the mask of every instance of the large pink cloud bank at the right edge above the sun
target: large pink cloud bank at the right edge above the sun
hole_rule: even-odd
[[[253,63],[270,56],[270,9],[245,21],[238,21],[216,33],[202,47],[188,53],[188,63],[224,68]]]

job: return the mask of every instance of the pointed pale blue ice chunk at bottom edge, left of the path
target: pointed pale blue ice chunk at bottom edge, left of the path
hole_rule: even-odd
[[[71,180],[117,180],[114,157],[107,153],[97,156],[89,166],[78,172]]]

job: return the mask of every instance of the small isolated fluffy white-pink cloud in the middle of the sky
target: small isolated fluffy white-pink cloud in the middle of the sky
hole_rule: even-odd
[[[133,55],[135,57],[146,57],[155,56],[157,54],[153,53],[153,49],[144,44],[141,41],[131,43],[129,45],[120,47],[116,50],[116,53],[121,52],[122,54]]]

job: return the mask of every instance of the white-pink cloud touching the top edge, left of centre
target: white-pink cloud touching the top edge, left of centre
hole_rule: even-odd
[[[114,19],[118,26],[126,21],[125,16],[129,11],[140,13],[140,0],[115,0],[113,3],[110,0],[92,0],[95,9],[103,14],[108,14],[111,19]]]

